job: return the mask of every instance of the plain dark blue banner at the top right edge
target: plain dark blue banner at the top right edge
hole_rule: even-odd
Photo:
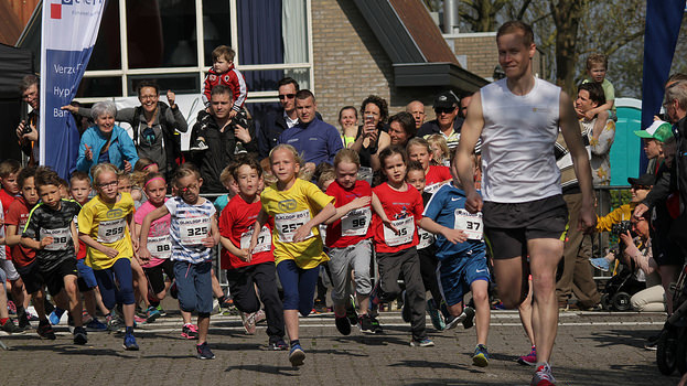
[[[684,11],[685,0],[646,0],[642,129],[650,127],[661,111]],[[647,163],[644,152],[642,154],[640,173],[644,173]]]

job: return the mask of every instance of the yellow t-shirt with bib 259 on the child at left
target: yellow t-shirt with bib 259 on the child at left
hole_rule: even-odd
[[[107,269],[115,261],[131,259],[133,248],[127,225],[127,216],[133,213],[133,200],[129,193],[120,193],[114,204],[105,203],[99,195],[87,202],[78,213],[78,232],[90,236],[106,247],[119,250],[116,258],[110,259],[104,253],[88,248],[86,265],[93,269]]]

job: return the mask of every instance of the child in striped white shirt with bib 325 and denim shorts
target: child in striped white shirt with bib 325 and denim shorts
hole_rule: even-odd
[[[207,345],[210,313],[213,310],[212,248],[219,243],[217,216],[213,204],[201,197],[203,179],[197,168],[184,163],[174,173],[178,196],[148,213],[141,224],[140,256],[147,261],[151,254],[148,234],[153,221],[171,215],[172,261],[182,311],[197,311],[200,360],[214,360]]]

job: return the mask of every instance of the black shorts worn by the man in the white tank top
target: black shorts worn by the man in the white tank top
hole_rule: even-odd
[[[566,239],[568,206],[562,195],[504,204],[485,201],[484,236],[494,259],[527,256],[527,240]]]

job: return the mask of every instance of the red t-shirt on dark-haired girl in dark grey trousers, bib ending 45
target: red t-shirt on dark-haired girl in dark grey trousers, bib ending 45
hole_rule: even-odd
[[[376,214],[374,215],[373,227],[375,249],[378,253],[396,253],[418,245],[417,224],[422,218],[422,195],[417,189],[408,185],[405,192],[399,192],[388,183],[375,186],[373,192],[382,202],[384,213],[399,229],[399,234],[395,235],[394,232],[382,223],[382,219]],[[414,217],[410,222],[408,218]],[[407,219],[404,222],[404,219]]]

